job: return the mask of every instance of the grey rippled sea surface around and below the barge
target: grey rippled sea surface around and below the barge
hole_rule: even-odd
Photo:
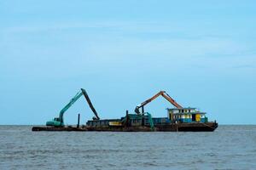
[[[215,132],[32,132],[0,126],[0,169],[256,169],[256,126]]]

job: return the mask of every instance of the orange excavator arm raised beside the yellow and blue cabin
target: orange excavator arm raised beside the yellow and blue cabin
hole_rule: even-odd
[[[166,91],[160,91],[159,93],[155,94],[152,98],[147,99],[146,101],[144,101],[140,105],[137,105],[137,107],[135,108],[135,112],[137,114],[140,114],[139,109],[142,108],[142,112],[144,113],[144,106],[147,105],[148,103],[150,103],[151,101],[153,101],[154,99],[158,98],[160,95],[163,96],[165,99],[167,99],[172,105],[174,105],[178,109],[183,108],[183,106],[178,105],[177,102],[174,99],[172,99],[169,94],[166,93]]]

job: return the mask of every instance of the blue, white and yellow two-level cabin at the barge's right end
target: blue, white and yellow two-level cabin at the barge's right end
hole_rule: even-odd
[[[171,122],[208,122],[206,112],[198,111],[196,108],[167,108],[167,114]]]

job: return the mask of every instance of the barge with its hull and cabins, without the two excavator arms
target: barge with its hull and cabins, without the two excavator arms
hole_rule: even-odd
[[[32,127],[32,131],[102,131],[102,132],[212,132],[218,123],[208,122],[205,112],[195,108],[167,109],[168,117],[152,117],[145,112],[120,119],[90,120],[82,127]]]

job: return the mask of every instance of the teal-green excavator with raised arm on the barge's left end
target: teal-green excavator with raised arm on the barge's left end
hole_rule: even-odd
[[[69,103],[67,105],[65,105],[65,107],[61,110],[59,117],[55,117],[53,120],[46,122],[46,126],[53,126],[53,127],[64,127],[64,113],[82,96],[84,95],[84,98],[86,99],[87,103],[90,106],[91,111],[95,114],[95,116],[93,117],[94,120],[100,120],[100,117],[98,116],[95,108],[93,107],[93,105],[90,102],[90,98],[88,96],[88,94],[86,93],[86,91],[81,88],[81,92],[79,92],[78,94],[76,94],[73,99],[71,99],[69,101]]]

